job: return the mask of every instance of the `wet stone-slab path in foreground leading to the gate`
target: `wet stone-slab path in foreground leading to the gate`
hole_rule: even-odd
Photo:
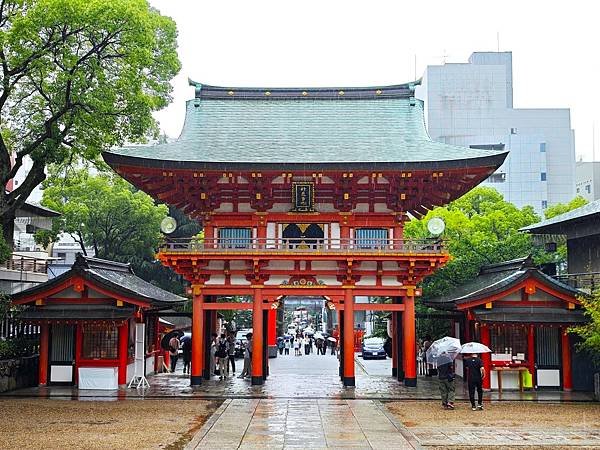
[[[413,449],[372,400],[226,400],[186,449]]]

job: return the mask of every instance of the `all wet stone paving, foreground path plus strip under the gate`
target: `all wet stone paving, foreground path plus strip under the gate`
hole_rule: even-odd
[[[241,366],[241,361],[238,361]],[[416,388],[406,388],[386,375],[389,360],[356,359],[355,388],[344,388],[338,376],[335,356],[283,356],[270,360],[270,375],[263,386],[248,379],[217,377],[192,388],[181,372],[149,378],[146,390],[121,388],[118,391],[78,391],[67,387],[30,388],[10,396],[72,398],[78,400],[120,400],[141,398],[223,399],[219,410],[194,436],[194,448],[423,448],[465,446],[588,446],[600,448],[600,430],[556,427],[554,429],[513,429],[473,427],[468,421],[447,430],[416,426],[407,428],[396,420],[386,400],[435,400],[438,385],[434,378],[420,377]],[[181,370],[181,369],[180,369]],[[239,368],[238,368],[239,371]],[[468,408],[464,386],[457,387],[457,404]],[[487,402],[500,400],[590,401],[589,393],[487,392]],[[383,401],[383,402],[382,402]],[[414,403],[413,403],[414,404]]]

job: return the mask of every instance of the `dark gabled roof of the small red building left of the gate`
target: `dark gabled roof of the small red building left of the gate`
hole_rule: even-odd
[[[165,291],[133,273],[131,266],[125,263],[92,258],[78,254],[71,269],[56,278],[26,289],[12,296],[13,301],[27,298],[32,295],[43,295],[54,286],[58,286],[66,280],[81,276],[100,286],[127,297],[145,301],[152,307],[174,306],[186,301],[185,298]]]

